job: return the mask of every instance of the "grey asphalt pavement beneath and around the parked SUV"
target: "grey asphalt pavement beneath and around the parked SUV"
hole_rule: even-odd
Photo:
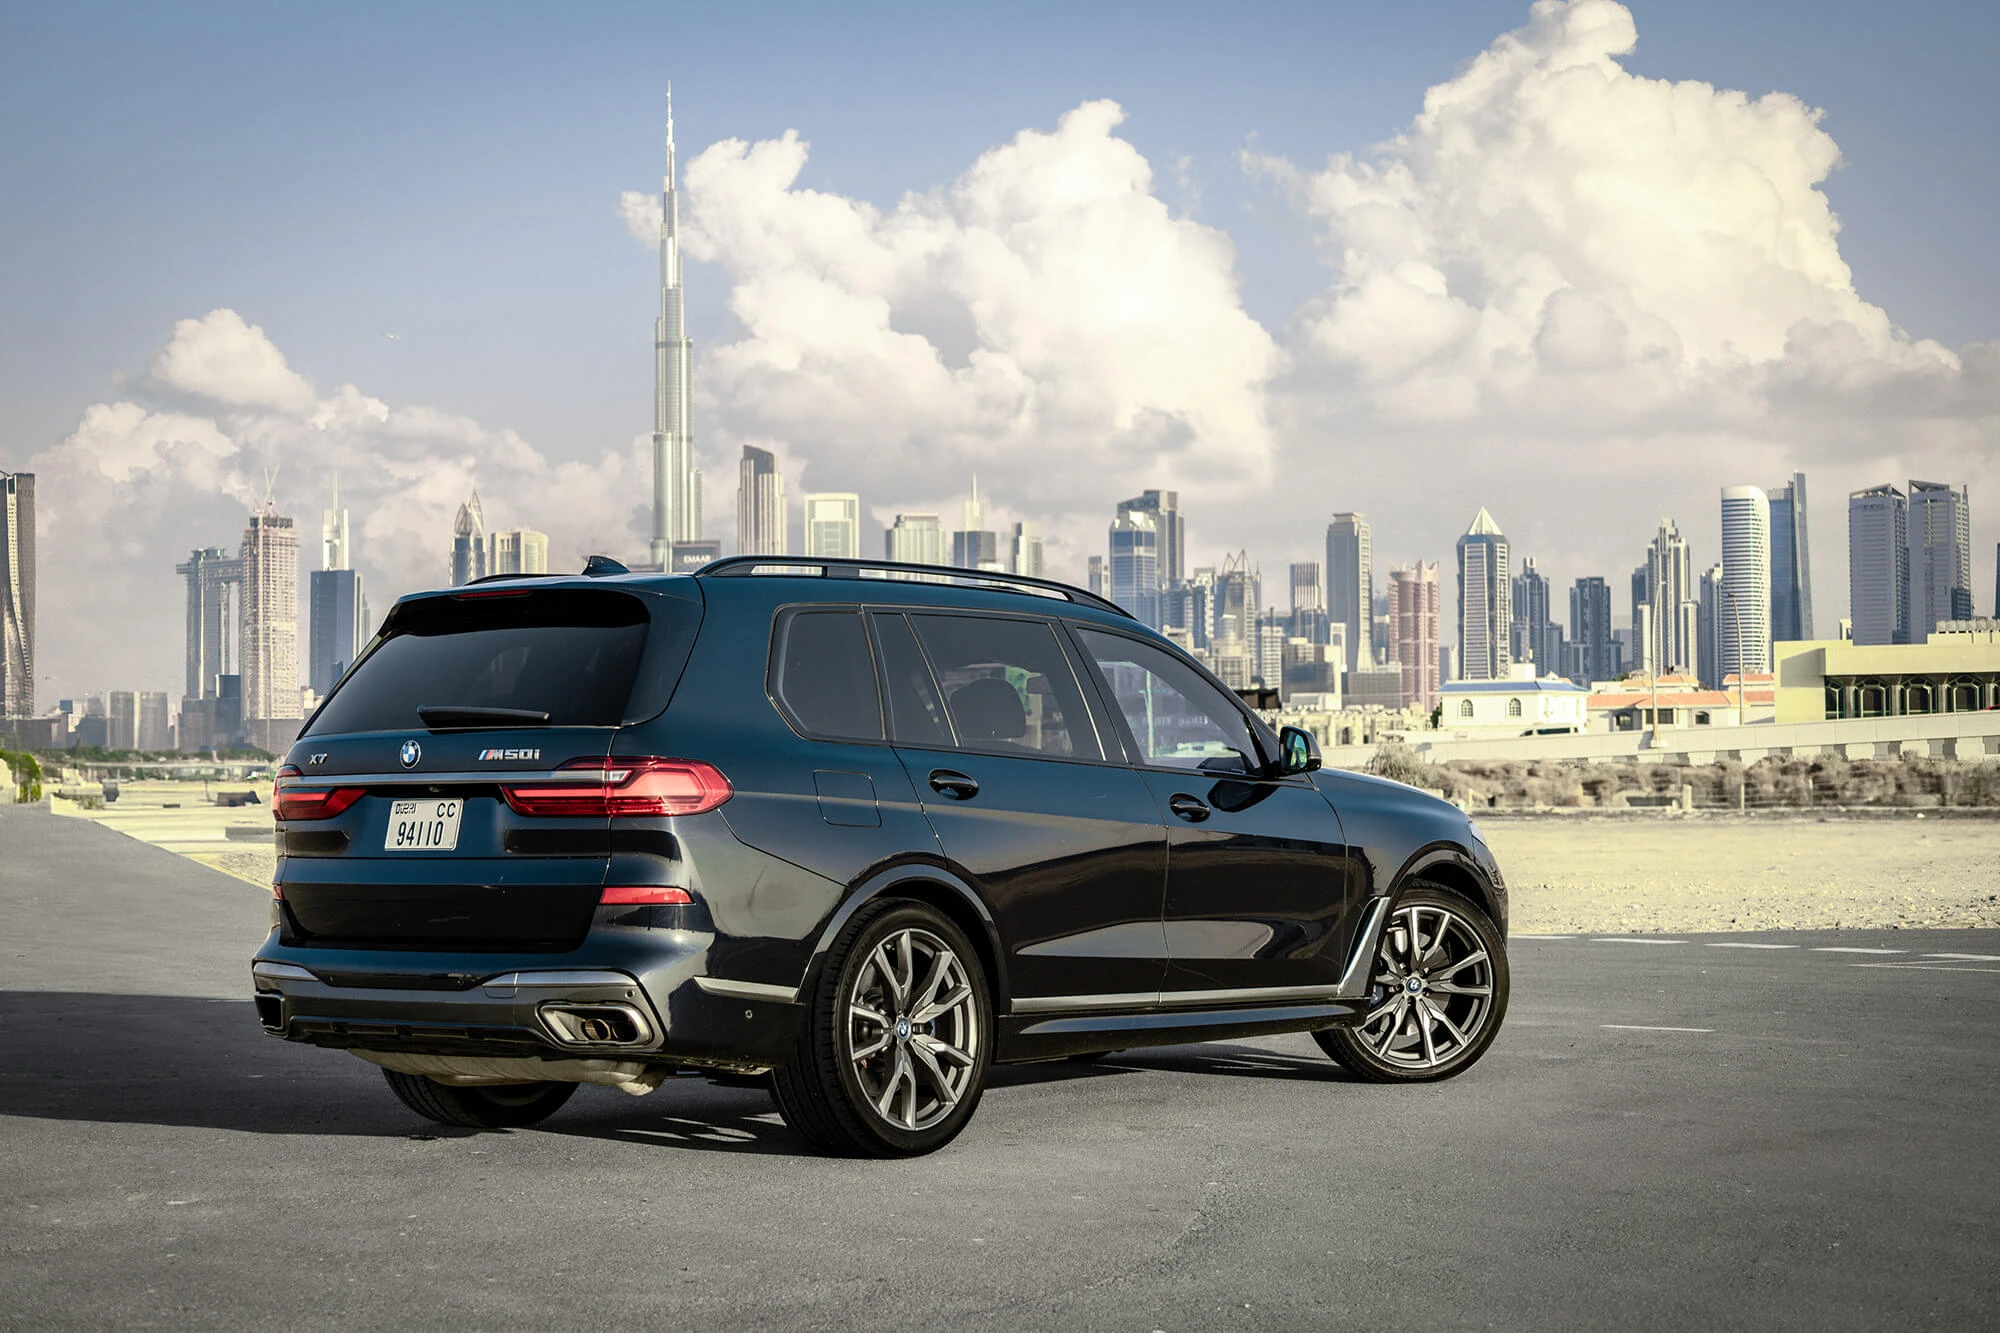
[[[1452,1083],[1306,1037],[1036,1065],[944,1153],[860,1163],[694,1079],[418,1121],[260,1033],[266,913],[0,807],[0,1325],[2000,1321],[1994,931],[1518,939]]]

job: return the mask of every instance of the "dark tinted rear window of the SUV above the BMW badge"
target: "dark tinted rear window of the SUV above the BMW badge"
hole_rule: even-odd
[[[664,612],[686,614],[682,636],[692,638],[696,608],[664,602]],[[308,733],[422,729],[416,711],[430,707],[518,709],[546,713],[550,727],[618,727],[628,721],[650,630],[646,602],[596,588],[404,602]]]

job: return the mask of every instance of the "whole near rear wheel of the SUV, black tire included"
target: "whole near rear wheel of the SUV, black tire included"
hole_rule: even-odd
[[[932,1005],[964,995],[918,1019],[932,977]],[[806,995],[798,1051],[772,1071],[778,1113],[830,1153],[934,1153],[978,1109],[992,1025],[986,969],[964,931],[924,903],[870,903],[828,949]]]

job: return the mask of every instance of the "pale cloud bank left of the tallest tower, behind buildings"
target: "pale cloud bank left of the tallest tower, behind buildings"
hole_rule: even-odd
[[[158,400],[90,406],[26,464],[40,478],[40,658],[58,691],[180,689],[172,566],[196,546],[234,550],[272,474],[278,512],[298,524],[304,598],[338,472],[378,618],[396,596],[448,580],[452,518],[474,486],[490,526],[548,532],[558,566],[644,548],[632,500],[650,494],[644,436],[552,464],[466,416],[392,406],[352,384],[314,396],[234,310],[180,320],[152,366]]]

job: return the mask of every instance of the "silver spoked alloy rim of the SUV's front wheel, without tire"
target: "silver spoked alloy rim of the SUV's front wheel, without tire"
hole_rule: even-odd
[[[1450,907],[1402,907],[1382,931],[1368,1017],[1354,1035],[1376,1059],[1438,1069],[1470,1051],[1492,1017],[1494,961]]]

